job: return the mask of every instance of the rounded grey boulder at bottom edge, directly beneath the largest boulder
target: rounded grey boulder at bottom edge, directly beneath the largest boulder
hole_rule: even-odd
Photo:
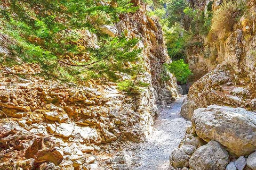
[[[199,147],[189,159],[189,166],[194,170],[221,170],[228,165],[228,152],[216,141],[210,141]]]

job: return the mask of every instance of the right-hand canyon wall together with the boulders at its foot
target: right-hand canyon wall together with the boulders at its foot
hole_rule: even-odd
[[[210,2],[213,11],[223,3],[204,1],[201,10]],[[214,21],[220,30],[202,36],[204,45],[191,50],[188,56],[195,82],[183,101],[181,115],[192,125],[170,156],[171,169],[256,167],[256,5],[250,0],[231,3],[236,2],[242,7],[230,9],[236,11],[241,7],[242,15],[228,10],[219,13],[225,16]],[[229,29],[227,18],[235,18]]]

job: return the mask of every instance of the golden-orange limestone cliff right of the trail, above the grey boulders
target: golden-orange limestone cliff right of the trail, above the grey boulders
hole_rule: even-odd
[[[217,4],[217,1],[214,1],[214,4]],[[232,25],[231,31],[226,32],[224,37],[219,36],[213,40],[208,38],[201,54],[197,56],[197,62],[190,63],[191,67],[199,68],[197,72],[203,69],[209,73],[196,81],[189,90],[189,101],[183,107],[183,111],[190,110],[188,118],[191,117],[193,109],[211,104],[244,107],[256,111],[256,35],[253,4],[253,1],[246,1],[247,12]],[[205,57],[206,55],[209,58]],[[193,55],[189,58],[191,57]],[[200,64],[204,67],[199,67]]]

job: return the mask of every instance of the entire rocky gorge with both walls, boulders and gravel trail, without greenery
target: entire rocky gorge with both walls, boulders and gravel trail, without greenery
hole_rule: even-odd
[[[0,65],[0,169],[256,169],[256,2],[226,16],[237,19],[230,29],[194,38],[203,45],[187,50],[185,96],[165,72],[172,61],[158,19],[131,2],[136,12],[100,31],[139,39],[148,86],[128,95],[111,81],[63,83],[30,76],[37,64]],[[192,2],[205,16],[225,4]],[[97,34],[83,30],[83,39],[98,48]],[[0,54],[11,54],[6,43],[0,32]]]

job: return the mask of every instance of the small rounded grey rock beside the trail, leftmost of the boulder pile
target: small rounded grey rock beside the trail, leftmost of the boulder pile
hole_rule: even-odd
[[[184,145],[175,149],[170,155],[170,165],[174,168],[189,167],[189,158],[196,148],[192,145]]]

